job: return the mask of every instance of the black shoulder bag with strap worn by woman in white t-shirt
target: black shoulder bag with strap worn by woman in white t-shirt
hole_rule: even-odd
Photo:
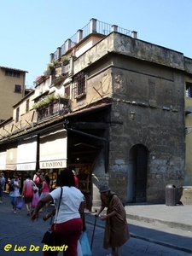
[[[59,208],[60,208],[60,204],[61,204],[61,197],[62,197],[62,187],[61,187],[60,201],[59,201],[59,205],[57,207],[57,212],[56,212],[55,228],[56,228],[56,219],[57,219]],[[53,215],[50,218],[49,230],[44,233],[44,237],[43,237],[43,239],[41,241],[42,243],[45,243],[48,246],[55,246],[56,245],[55,228],[54,228],[54,230],[50,230],[51,229],[51,225],[52,225],[52,220],[53,220]]]

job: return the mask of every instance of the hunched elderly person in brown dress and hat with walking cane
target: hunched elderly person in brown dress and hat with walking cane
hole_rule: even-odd
[[[112,248],[112,253],[109,253],[108,256],[120,256],[120,247],[130,238],[125,207],[118,195],[113,195],[114,193],[109,188],[108,183],[100,183],[99,192],[101,193],[101,207],[96,212],[96,218],[105,207],[108,207],[107,214],[101,216],[101,219],[106,221],[103,247],[105,249]]]

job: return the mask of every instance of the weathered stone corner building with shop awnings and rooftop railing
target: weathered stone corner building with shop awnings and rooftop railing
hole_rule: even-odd
[[[108,28],[99,31],[98,23]],[[99,203],[102,180],[122,201],[165,202],[168,183],[180,191],[184,184],[184,77],[192,69],[182,53],[139,40],[137,32],[95,19],[89,29],[50,55],[26,127],[16,131],[20,120],[13,119],[8,134],[0,126],[1,169],[15,143],[18,172],[40,168],[56,186],[61,168],[72,168],[89,210]],[[20,157],[27,151],[31,158]]]

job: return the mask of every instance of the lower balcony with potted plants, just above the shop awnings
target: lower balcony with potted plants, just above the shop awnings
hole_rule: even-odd
[[[71,112],[71,103],[67,98],[54,99],[49,103],[37,108],[38,122],[49,119],[55,115],[61,115]]]

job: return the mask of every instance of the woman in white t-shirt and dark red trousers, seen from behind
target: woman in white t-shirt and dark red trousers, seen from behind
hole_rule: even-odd
[[[67,250],[63,251],[65,256],[77,256],[77,246],[82,230],[86,230],[84,219],[84,195],[75,188],[73,172],[70,169],[64,169],[60,174],[61,187],[51,191],[49,195],[44,196],[38,201],[38,206],[32,215],[32,221],[38,219],[39,210],[49,201],[55,201],[56,219],[51,226],[55,230],[56,242],[60,245],[65,244]],[[58,203],[61,196],[61,205],[57,212]],[[49,215],[47,216],[49,217]],[[65,253],[65,254],[64,254]],[[44,256],[49,252],[44,252]]]

